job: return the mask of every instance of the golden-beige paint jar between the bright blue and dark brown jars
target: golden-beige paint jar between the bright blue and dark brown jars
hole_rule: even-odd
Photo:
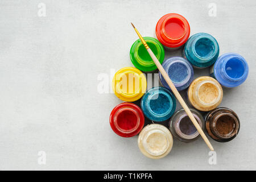
[[[201,76],[188,88],[188,101],[198,110],[209,111],[220,105],[223,97],[221,85],[212,77]]]

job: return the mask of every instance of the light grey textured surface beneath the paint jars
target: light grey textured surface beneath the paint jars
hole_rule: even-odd
[[[46,4],[46,17],[38,4]],[[217,16],[208,15],[209,3]],[[0,169],[256,169],[255,151],[256,1],[0,1]],[[212,34],[220,54],[240,53],[249,63],[241,86],[224,89],[221,106],[241,119],[238,137],[228,143],[210,139],[217,164],[208,164],[203,139],[174,140],[166,158],[148,159],[137,136],[121,138],[109,125],[119,103],[99,94],[98,75],[132,66],[135,34],[154,36],[167,13],[187,18],[191,35]],[[166,58],[180,52],[166,53]],[[208,69],[195,77],[208,75]],[[110,88],[109,88],[110,90]],[[179,108],[179,107],[178,107]],[[47,154],[38,164],[38,152]]]

